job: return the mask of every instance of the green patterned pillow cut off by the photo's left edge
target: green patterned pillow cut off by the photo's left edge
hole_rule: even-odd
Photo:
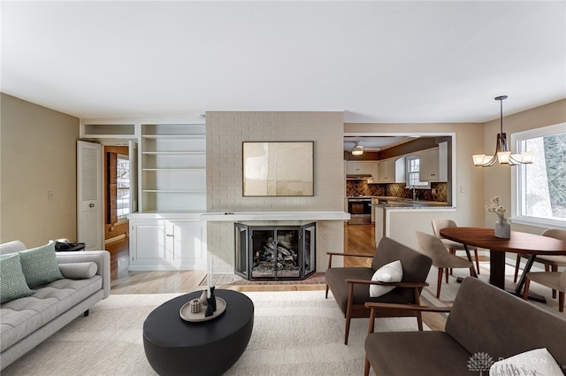
[[[0,256],[0,303],[34,294],[27,287],[26,276],[21,271],[19,253]]]

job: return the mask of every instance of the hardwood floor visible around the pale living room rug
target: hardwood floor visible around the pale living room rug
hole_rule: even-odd
[[[111,294],[164,294],[195,291],[206,278],[205,271],[175,272],[128,272],[127,239],[106,245],[111,253]],[[344,226],[344,249],[347,252],[373,255],[375,237],[372,225]],[[345,257],[344,265],[369,265],[363,257]],[[223,286],[238,291],[289,291],[289,290],[324,290],[324,284],[305,284],[297,282],[293,285],[233,285]],[[432,295],[432,300],[436,300]],[[433,302],[423,296],[423,303],[444,305],[440,301]],[[426,313],[424,323],[434,330],[442,330],[446,323],[446,315]]]

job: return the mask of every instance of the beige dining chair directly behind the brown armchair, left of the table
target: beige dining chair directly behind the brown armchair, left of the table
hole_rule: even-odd
[[[418,250],[424,255],[432,258],[432,265],[439,268],[436,285],[436,297],[440,298],[442,286],[442,272],[446,272],[446,283],[448,283],[448,269],[466,268],[470,269],[470,275],[474,275],[474,265],[469,260],[464,260],[448,252],[444,243],[431,234],[417,231]]]

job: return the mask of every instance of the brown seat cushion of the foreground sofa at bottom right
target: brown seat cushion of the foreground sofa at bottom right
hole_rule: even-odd
[[[371,368],[384,376],[470,376],[470,353],[444,332],[368,334],[365,353]],[[433,359],[433,361],[431,361]],[[489,370],[489,366],[485,371]],[[486,374],[486,373],[484,373]]]

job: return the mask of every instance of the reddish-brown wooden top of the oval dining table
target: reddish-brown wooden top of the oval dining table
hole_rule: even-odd
[[[566,255],[566,241],[537,234],[511,231],[509,239],[501,239],[495,237],[493,228],[446,227],[440,230],[440,235],[454,242],[500,252],[524,255]]]

